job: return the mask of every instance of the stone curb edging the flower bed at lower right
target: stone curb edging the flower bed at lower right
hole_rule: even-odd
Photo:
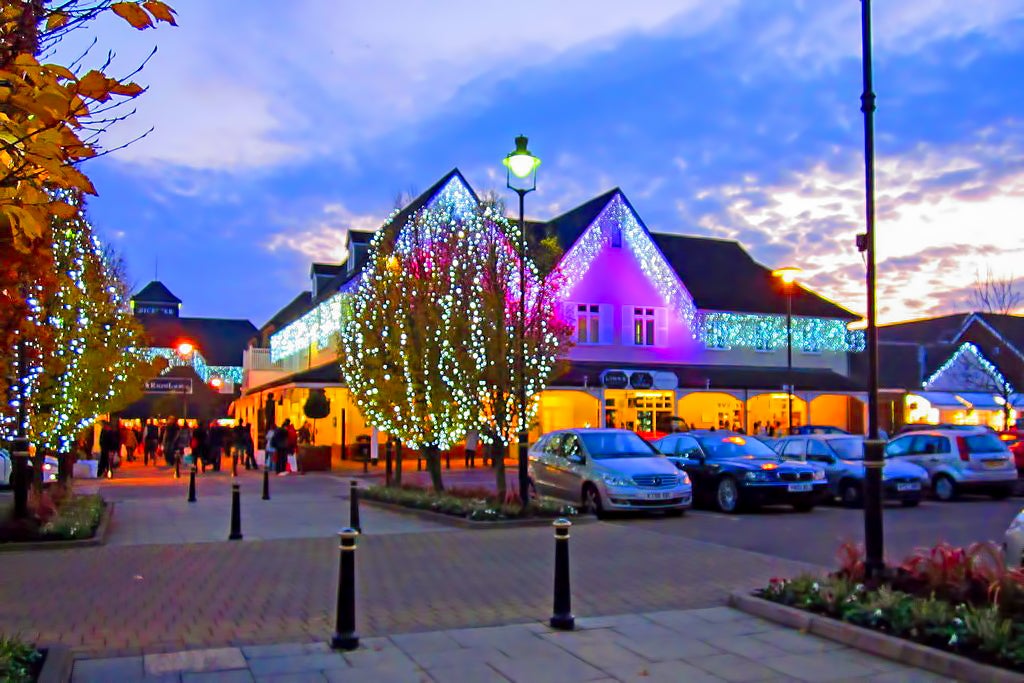
[[[746,593],[729,595],[729,606],[761,618],[827,638],[838,643],[958,681],[1020,683],[1021,674],[944,652],[830,616],[764,600]]]

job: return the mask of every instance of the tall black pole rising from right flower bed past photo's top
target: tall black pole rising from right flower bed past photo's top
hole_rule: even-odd
[[[864,450],[865,571],[878,578],[885,571],[882,523],[882,466],[885,454],[879,439],[879,330],[874,309],[874,88],[871,79],[871,0],[861,0],[861,52],[864,92],[864,251],[867,259],[867,437]]]

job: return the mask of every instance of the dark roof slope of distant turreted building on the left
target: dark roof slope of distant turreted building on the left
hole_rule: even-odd
[[[173,348],[187,340],[211,366],[241,366],[242,351],[256,336],[249,321],[147,315],[139,322],[150,346]]]

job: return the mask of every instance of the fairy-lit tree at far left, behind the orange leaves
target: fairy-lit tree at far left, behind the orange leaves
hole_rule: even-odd
[[[96,416],[140,397],[153,372],[141,354],[144,333],[129,310],[120,260],[96,239],[81,209],[55,219],[52,234],[54,272],[33,286],[32,312],[19,337],[24,388],[18,391],[15,379],[0,415],[9,438],[25,396],[26,431],[40,457],[70,453]]]

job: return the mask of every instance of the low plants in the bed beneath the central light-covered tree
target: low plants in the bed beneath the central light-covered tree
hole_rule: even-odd
[[[505,501],[486,488],[450,488],[441,494],[420,486],[369,486],[359,495],[372,501],[400,505],[415,510],[429,510],[471,521],[522,519],[518,496]],[[534,501],[527,515],[535,518],[575,517],[580,511],[571,505],[552,501]]]

